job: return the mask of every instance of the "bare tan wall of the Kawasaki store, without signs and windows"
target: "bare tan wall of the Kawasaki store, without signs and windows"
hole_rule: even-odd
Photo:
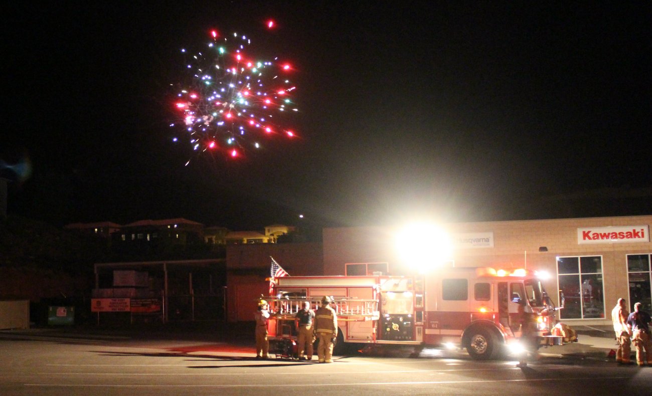
[[[569,324],[608,324],[609,312],[617,298],[629,302],[628,254],[652,253],[652,243],[622,242],[579,244],[578,228],[647,226],[652,216],[610,218],[546,219],[529,221],[492,221],[443,225],[449,234],[493,233],[494,246],[454,249],[455,266],[492,266],[506,270],[527,268],[546,271],[552,277],[544,282],[550,297],[558,304],[557,257],[601,256],[604,286],[604,318],[564,320]],[[345,264],[388,262],[394,275],[413,272],[400,261],[394,245],[398,229],[383,227],[331,228],[323,231],[323,268],[325,275],[344,275]],[[539,251],[545,247],[547,251]],[[433,255],[436,252],[433,251]],[[633,303],[633,302],[632,302]]]

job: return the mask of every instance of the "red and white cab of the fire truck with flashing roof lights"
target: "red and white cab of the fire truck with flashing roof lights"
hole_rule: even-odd
[[[424,345],[459,345],[477,360],[499,358],[522,334],[519,305],[536,322],[539,346],[563,343],[551,333],[558,308],[532,272],[448,268],[425,282]]]

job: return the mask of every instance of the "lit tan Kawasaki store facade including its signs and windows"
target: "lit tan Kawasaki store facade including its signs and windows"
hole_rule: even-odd
[[[556,304],[562,294],[565,300],[561,319],[598,325],[610,322],[610,310],[621,297],[630,308],[642,302],[652,310],[650,223],[652,216],[629,216],[451,223],[443,229],[452,245],[448,265],[548,274],[544,285],[550,297]],[[391,227],[324,229],[324,274],[413,274],[396,251],[397,232]],[[422,240],[415,237],[415,244]],[[431,242],[419,243],[436,257],[437,241]]]

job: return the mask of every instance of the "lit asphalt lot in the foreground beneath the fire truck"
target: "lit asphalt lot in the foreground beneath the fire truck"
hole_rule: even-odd
[[[542,348],[527,367],[464,350],[405,348],[333,364],[254,358],[252,324],[32,328],[0,332],[0,395],[627,395],[652,394],[652,368],[621,366],[608,328]]]

